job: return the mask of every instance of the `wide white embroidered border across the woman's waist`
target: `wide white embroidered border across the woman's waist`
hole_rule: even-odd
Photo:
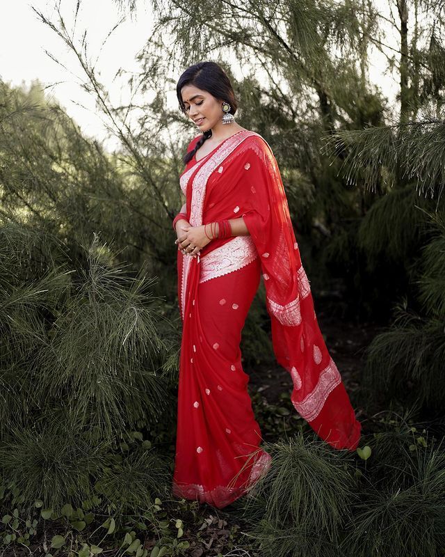
[[[252,237],[236,236],[200,259],[200,283],[238,271],[257,257],[258,253]]]

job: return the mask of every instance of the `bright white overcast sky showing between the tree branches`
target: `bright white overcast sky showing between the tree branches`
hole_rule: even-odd
[[[76,74],[81,76],[81,71],[73,54],[54,31],[40,22],[31,8],[34,6],[49,19],[54,19],[54,3],[54,0],[3,0],[0,6],[0,77],[13,85],[29,85],[33,79],[39,79],[44,86],[49,86],[47,93],[56,97],[67,113],[79,123],[83,132],[102,141],[106,138],[106,130],[95,112],[94,98],[78,86],[80,80]],[[382,10],[385,10],[385,6],[387,10],[386,0],[378,0],[377,3],[382,6]],[[76,0],[61,1],[69,29],[75,7]],[[132,19],[127,15],[127,19],[108,38],[101,51],[108,32],[123,15],[113,0],[83,0],[76,24],[76,35],[81,36],[81,32],[86,29],[90,57],[99,55],[97,68],[100,70],[100,79],[116,103],[121,98],[125,101],[127,89],[122,88],[122,79],[113,79],[115,73],[120,68],[130,72],[137,70],[135,56],[145,45],[152,29],[149,1],[139,0],[136,17]],[[391,46],[397,47],[396,38]],[[55,54],[67,69],[51,60],[44,49]],[[380,86],[390,102],[394,102],[397,84],[389,74],[383,74],[384,58],[375,53],[371,59],[371,81]],[[168,97],[176,102],[174,91]],[[111,140],[106,141],[106,146],[114,148],[117,144]]]

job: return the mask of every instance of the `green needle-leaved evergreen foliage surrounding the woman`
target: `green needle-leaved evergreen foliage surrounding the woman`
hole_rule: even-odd
[[[120,3],[136,10],[133,0]],[[42,519],[65,516],[81,531],[92,520],[83,510],[102,505],[106,535],[116,524],[124,533],[115,547],[147,557],[136,531],[149,527],[159,538],[153,556],[162,544],[163,554],[186,554],[182,520],[170,528],[156,499],[170,495],[180,345],[171,219],[193,135],[166,108],[165,91],[170,70],[211,56],[241,100],[238,122],[277,156],[315,290],[341,283],[344,315],[386,324],[393,311],[360,385],[369,450],[344,455],[300,432],[264,444],[273,466],[235,508],[262,556],[437,555],[445,547],[442,2],[398,3],[398,119],[367,77],[369,45],[384,46],[373,3],[152,6],[155,33],[129,81],[152,100],[126,107],[113,107],[85,38],[76,42],[60,11],[58,24],[37,12],[76,55],[119,152],[83,136],[38,84],[0,82],[0,494],[11,505],[3,543],[17,539],[22,509],[42,506]],[[431,15],[426,45],[422,8]],[[230,49],[244,65],[238,79]],[[243,333],[245,365],[272,361],[265,307],[260,289]],[[197,521],[188,507],[186,517]],[[37,523],[28,521],[30,532]],[[67,540],[52,541],[60,549]],[[102,551],[82,542],[79,557]]]

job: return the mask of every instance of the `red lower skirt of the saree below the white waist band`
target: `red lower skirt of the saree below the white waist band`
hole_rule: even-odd
[[[184,320],[189,334],[181,343],[173,493],[223,508],[245,493],[270,461],[259,449],[261,432],[239,349],[260,265],[257,258],[199,288],[196,269],[193,262],[189,284],[195,288]]]

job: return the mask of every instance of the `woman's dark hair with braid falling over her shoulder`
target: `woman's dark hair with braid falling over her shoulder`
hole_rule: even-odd
[[[230,104],[229,113],[236,113],[238,108],[238,102],[236,102],[235,93],[227,77],[226,72],[218,65],[216,62],[198,62],[193,64],[190,68],[179,77],[179,81],[176,86],[176,94],[179,101],[179,108],[181,111],[186,113],[186,107],[184,102],[182,102],[181,89],[185,85],[194,85],[202,91],[207,91],[215,97],[216,99],[222,99]],[[204,132],[202,137],[197,141],[195,148],[187,152],[183,161],[187,164],[195,155],[195,152],[202,146],[202,143],[211,137],[211,130]]]

